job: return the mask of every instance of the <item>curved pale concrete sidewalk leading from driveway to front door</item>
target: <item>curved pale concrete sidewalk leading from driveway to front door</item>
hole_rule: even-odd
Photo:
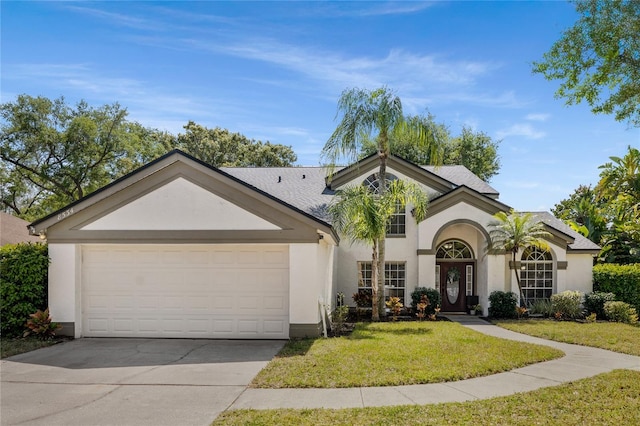
[[[551,346],[566,355],[505,373],[456,382],[346,389],[248,388],[227,409],[354,408],[463,402],[556,386],[615,369],[640,371],[640,357],[637,356],[531,337],[477,317],[452,315],[449,318],[490,336]]]

